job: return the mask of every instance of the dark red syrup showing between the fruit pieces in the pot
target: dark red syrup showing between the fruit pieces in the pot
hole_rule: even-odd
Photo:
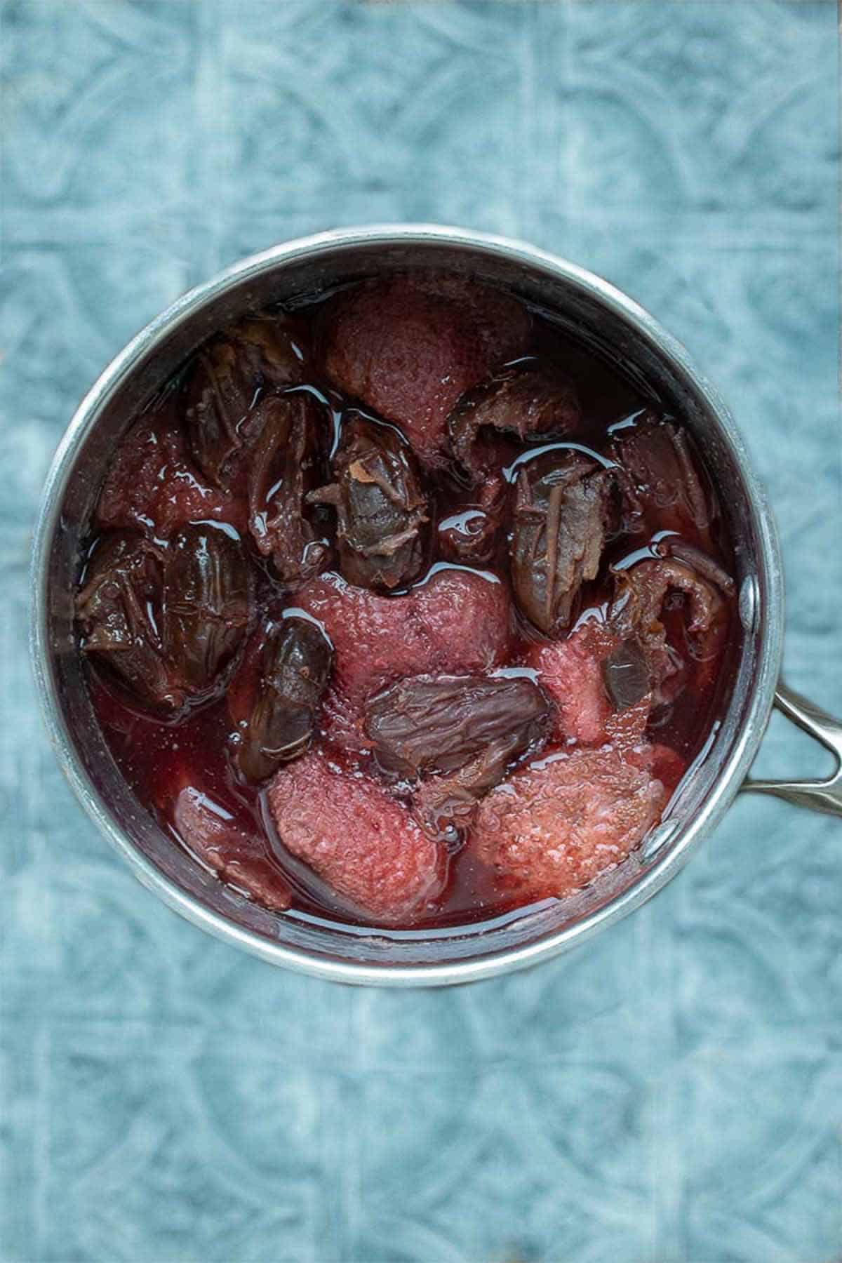
[[[313,345],[319,345],[323,299],[312,306],[300,306],[295,311],[295,321],[303,330],[303,336]],[[654,392],[640,384],[639,376],[627,371],[621,361],[610,361],[592,347],[563,332],[547,313],[529,312],[530,335],[523,354],[511,361],[520,366],[534,366],[548,375],[563,373],[572,383],[581,404],[581,419],[572,434],[542,434],[540,441],[519,438],[514,433],[501,432],[495,436],[494,474],[502,472],[507,495],[514,496],[514,484],[519,466],[538,452],[579,451],[588,458],[601,462],[611,470],[616,466],[617,436],[634,431],[641,418],[656,414],[658,418],[670,418],[670,409],[659,400]],[[162,398],[172,399],[179,395],[189,365],[173,383],[164,385]],[[632,384],[634,380],[634,384]],[[340,437],[350,416],[371,417],[375,424],[384,422],[382,416],[371,409],[366,400],[343,394],[337,384],[319,368],[318,355],[305,380],[298,381],[295,392],[305,392],[317,400],[322,410],[326,428],[324,460],[329,464],[337,450]],[[266,386],[258,381],[252,407],[260,403]],[[154,409],[153,409],[154,410]],[[680,426],[680,417],[672,418]],[[389,418],[385,418],[389,422]],[[182,426],[186,423],[182,418]],[[650,496],[651,489],[637,480],[630,493],[635,504],[634,520],[629,514],[617,510],[602,547],[598,573],[581,582],[573,602],[569,624],[558,639],[564,639],[587,624],[602,625],[610,611],[617,604],[617,575],[632,570],[646,558],[659,560],[669,553],[670,542],[679,541],[687,547],[692,558],[694,551],[708,558],[715,573],[730,576],[733,573],[733,556],[727,539],[725,523],[716,499],[716,491],[704,471],[698,452],[688,441],[684,448],[689,452],[698,485],[703,488],[707,501],[707,520],[703,527],[696,527],[685,518],[680,530],[659,503],[660,491]],[[687,455],[685,457],[687,458]],[[186,467],[189,462],[186,461]],[[172,451],[162,451],[160,477],[170,476],[173,470]],[[183,481],[184,470],[178,470]],[[423,470],[424,486],[428,495],[428,517],[432,518],[430,543],[423,573],[406,586],[396,586],[389,600],[400,600],[408,592],[429,581],[430,573],[443,570],[465,570],[476,573],[483,582],[494,581],[510,594],[510,536],[506,522],[499,530],[489,554],[481,563],[453,560],[452,549],[443,549],[442,530],[471,534],[472,524],[481,517],[477,509],[477,489],[466,485],[463,471],[452,461],[434,461]],[[661,489],[663,490],[663,489]],[[612,495],[615,493],[612,491]],[[619,495],[619,493],[617,493]],[[239,501],[237,501],[239,503]],[[227,525],[240,541],[249,556],[251,567],[251,614],[250,626],[259,626],[270,616],[283,610],[298,610],[300,582],[284,582],[273,568],[271,560],[261,554],[254,538],[244,529],[241,505],[231,514],[226,513],[225,499],[213,500],[208,520]],[[135,505],[136,509],[136,505]],[[133,512],[135,512],[133,509]],[[326,541],[336,530],[329,513],[319,510],[318,529],[323,529]],[[614,513],[614,509],[612,509]],[[148,514],[138,510],[139,528],[145,529],[162,549],[169,547],[170,524],[159,532],[155,512]],[[189,520],[203,520],[201,504],[198,512],[191,513]],[[101,527],[93,530],[90,539],[88,557],[96,556],[101,538],[107,532]],[[680,548],[679,548],[680,552]],[[81,585],[85,582],[86,566],[82,567]],[[327,566],[327,572],[336,568],[336,556]],[[723,581],[720,591],[726,610],[720,615],[725,633],[718,635],[713,654],[699,654],[697,638],[688,632],[691,619],[692,594],[670,590],[665,594],[660,608],[660,621],[665,629],[664,654],[672,654],[682,662],[682,687],[674,697],[653,705],[648,714],[645,729],[639,734],[639,744],[649,743],[654,749],[650,757],[651,775],[656,777],[669,794],[675,789],[683,772],[702,749],[712,725],[727,697],[732,678],[733,637],[736,618],[733,613],[732,587]],[[614,602],[614,604],[612,604]],[[150,609],[150,619],[155,624],[157,614]],[[535,647],[548,638],[511,601],[510,633],[505,661],[497,662],[490,671],[495,678],[507,673],[520,672],[538,678],[534,663]],[[659,650],[660,652],[660,650]],[[241,657],[241,652],[240,652]],[[698,659],[698,661],[697,661]],[[268,783],[250,783],[237,773],[232,762],[232,736],[236,741],[236,724],[226,696],[231,679],[239,669],[239,657],[235,655],[220,672],[213,687],[201,692],[194,700],[177,709],[174,714],[163,714],[149,707],[133,696],[114,671],[97,659],[87,655],[87,674],[91,697],[106,743],[114,759],[131,787],[138,801],[150,810],[160,827],[172,837],[173,845],[183,846],[197,863],[207,863],[201,850],[197,850],[191,837],[183,836],[175,818],[174,805],[186,787],[192,787],[201,796],[208,810],[217,813],[239,836],[251,840],[246,863],[254,880],[244,883],[242,888],[251,897],[260,899],[260,889],[270,889],[273,883],[290,892],[289,916],[308,916],[327,921],[340,921],[351,925],[380,923],[376,916],[366,914],[352,899],[333,889],[328,880],[318,875],[302,859],[293,855],[279,835],[273,811],[268,801]],[[433,668],[434,669],[434,668]],[[357,743],[343,749],[336,741],[336,729],[317,721],[313,744],[327,750],[331,764],[350,778],[372,778],[379,774],[377,760],[365,744]],[[555,741],[555,745],[559,743]],[[563,745],[563,743],[562,743]],[[568,748],[574,750],[577,740],[569,739]],[[531,750],[524,763],[540,760],[548,748]],[[563,753],[563,751],[562,751]],[[518,760],[513,760],[513,770]],[[390,792],[393,789],[390,788]],[[395,791],[398,798],[412,803],[412,797],[401,798],[401,788]],[[559,830],[563,822],[559,823]],[[513,908],[528,906],[531,901],[524,897],[523,887],[513,885],[510,875],[499,866],[489,864],[471,845],[470,829],[457,831],[449,840],[437,844],[447,851],[447,880],[434,899],[419,906],[406,918],[398,917],[389,925],[393,928],[423,930],[429,927],[454,927],[471,922],[494,918]],[[213,865],[218,870],[218,865]],[[606,864],[611,866],[611,864]],[[237,885],[236,873],[227,871],[226,880]],[[258,892],[255,894],[255,892]],[[567,893],[567,892],[564,892]]]

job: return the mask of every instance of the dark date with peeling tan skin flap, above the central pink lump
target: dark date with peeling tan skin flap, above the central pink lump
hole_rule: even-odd
[[[333,474],[308,500],[336,509],[343,576],[381,591],[412,584],[429,556],[427,496],[412,448],[390,426],[357,416],[342,428]]]

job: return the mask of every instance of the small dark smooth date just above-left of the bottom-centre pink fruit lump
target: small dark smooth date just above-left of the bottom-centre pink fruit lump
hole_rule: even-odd
[[[287,618],[266,637],[258,691],[234,763],[246,781],[265,781],[309,746],[333,667],[333,649],[309,619]]]

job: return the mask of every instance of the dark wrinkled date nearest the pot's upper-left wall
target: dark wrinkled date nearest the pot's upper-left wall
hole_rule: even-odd
[[[199,351],[187,381],[187,433],[193,460],[216,486],[231,481],[258,392],[304,380],[302,346],[302,331],[288,317],[252,316]]]

